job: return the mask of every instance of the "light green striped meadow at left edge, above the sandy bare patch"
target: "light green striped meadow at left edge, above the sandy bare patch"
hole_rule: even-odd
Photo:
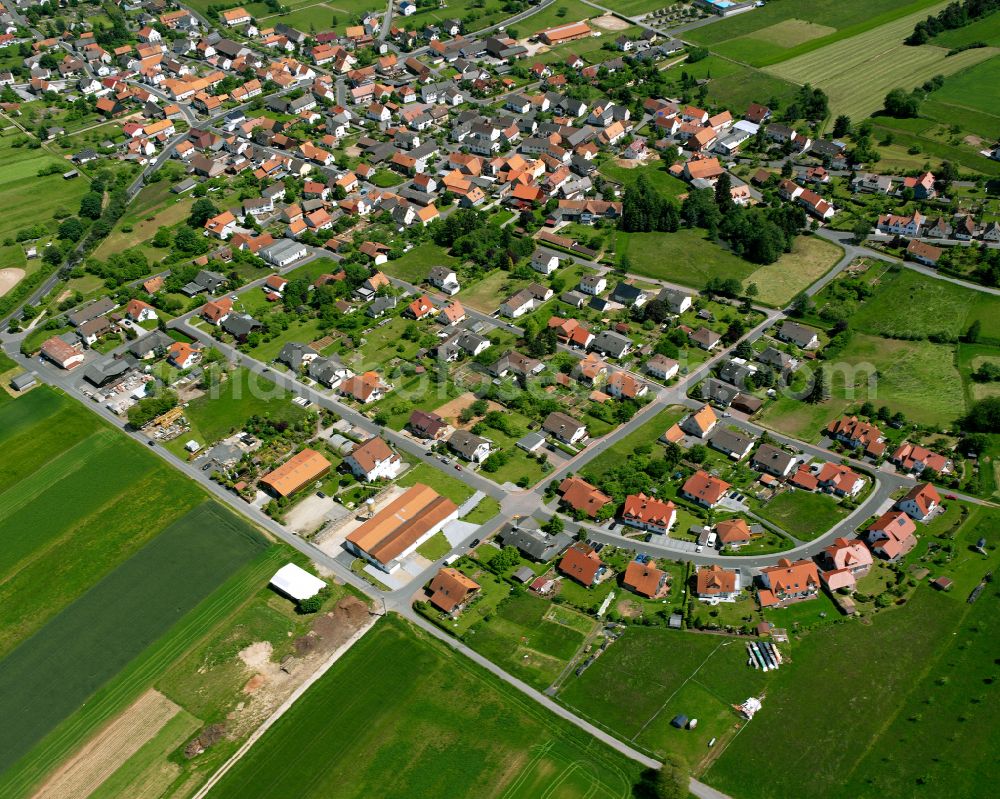
[[[22,136],[20,132],[18,136]],[[58,223],[53,214],[59,208],[69,214],[76,213],[80,198],[87,192],[89,182],[84,177],[64,180],[62,172],[70,165],[45,150],[13,147],[14,136],[0,137],[0,239],[13,237],[17,231],[35,224],[42,224],[54,233]],[[54,175],[38,177],[38,170],[49,165],[61,168]],[[30,203],[24,202],[31,197]],[[16,266],[17,264],[4,264]]]

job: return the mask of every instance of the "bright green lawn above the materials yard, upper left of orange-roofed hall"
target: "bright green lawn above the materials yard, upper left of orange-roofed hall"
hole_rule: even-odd
[[[218,396],[209,393],[191,400],[184,410],[191,425],[190,438],[202,446],[241,429],[251,416],[294,422],[306,415],[303,408],[292,404],[287,391],[242,367],[230,372],[215,393]],[[190,438],[185,434],[175,441]]]

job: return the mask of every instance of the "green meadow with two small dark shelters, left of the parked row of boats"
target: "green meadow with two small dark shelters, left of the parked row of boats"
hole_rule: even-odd
[[[622,740],[654,756],[676,753],[697,768],[708,741],[724,742],[739,726],[730,705],[757,695],[769,676],[746,665],[739,639],[632,627],[570,677],[558,698]],[[697,718],[697,729],[672,727],[678,714]]]

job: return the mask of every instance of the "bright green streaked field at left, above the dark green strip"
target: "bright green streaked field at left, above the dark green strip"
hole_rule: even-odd
[[[193,508],[201,494],[48,388],[0,408],[0,431],[3,657]],[[59,588],[32,590],[39,584]]]

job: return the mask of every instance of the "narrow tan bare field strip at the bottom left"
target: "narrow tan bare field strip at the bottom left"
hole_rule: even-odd
[[[89,796],[179,712],[159,691],[147,691],[54,772],[33,799]]]

